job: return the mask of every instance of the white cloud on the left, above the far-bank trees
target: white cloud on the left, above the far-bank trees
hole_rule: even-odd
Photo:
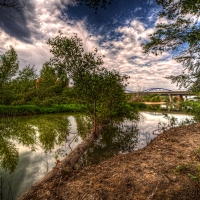
[[[73,33],[77,33],[83,40],[86,51],[92,51],[97,46],[94,40],[88,40],[90,34],[86,28],[86,21],[77,22],[69,20],[67,15],[62,15],[61,9],[71,5],[72,1],[36,0],[32,3],[35,9],[28,10],[27,8],[24,12],[27,26],[31,32],[30,40],[32,44],[26,44],[9,36],[4,30],[0,30],[0,43],[2,44],[0,54],[7,51],[9,46],[12,45],[18,53],[21,68],[31,64],[35,65],[39,71],[42,65],[52,56],[49,52],[50,47],[46,42],[49,38],[55,37],[59,30],[69,37]],[[62,19],[61,16],[63,16]]]

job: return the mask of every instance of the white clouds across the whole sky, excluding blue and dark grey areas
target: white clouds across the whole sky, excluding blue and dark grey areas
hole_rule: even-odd
[[[136,89],[138,85],[141,88],[164,87],[171,89],[175,87],[163,77],[181,73],[181,66],[169,59],[167,53],[156,57],[144,55],[142,52],[141,43],[149,39],[149,34],[154,29],[146,29],[143,23],[131,20],[124,26],[116,28],[115,33],[121,34],[120,37],[115,40],[107,40],[99,45],[103,36],[92,35],[88,31],[87,19],[69,20],[67,14],[61,13],[61,9],[64,9],[63,3],[70,5],[71,2],[70,0],[34,1],[34,12],[25,12],[32,34],[32,44],[23,43],[0,30],[0,43],[2,44],[0,54],[5,52],[9,45],[12,45],[19,55],[21,67],[31,64],[35,65],[39,71],[42,64],[51,57],[50,47],[46,44],[48,38],[55,37],[58,30],[69,37],[73,33],[77,33],[82,38],[86,51],[92,51],[94,47],[97,47],[99,53],[106,56],[104,58],[105,67],[119,70],[122,74],[130,76],[129,89]]]

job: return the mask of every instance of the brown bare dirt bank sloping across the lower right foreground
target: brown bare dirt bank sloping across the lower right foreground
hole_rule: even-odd
[[[37,199],[200,199],[200,123],[172,128],[144,149],[74,170]]]

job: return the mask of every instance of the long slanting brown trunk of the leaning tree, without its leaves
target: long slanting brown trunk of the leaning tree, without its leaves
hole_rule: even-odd
[[[36,199],[37,190],[41,189],[46,183],[53,180],[62,180],[78,162],[84,152],[92,145],[94,140],[102,131],[103,126],[98,127],[98,134],[95,130],[81,143],[79,144],[70,154],[68,154],[60,163],[58,163],[50,172],[48,172],[41,180],[36,182],[31,188],[23,194],[18,200],[30,200]]]

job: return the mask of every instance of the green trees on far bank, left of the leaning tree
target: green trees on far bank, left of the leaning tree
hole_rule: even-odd
[[[13,47],[0,56],[0,104],[50,106],[69,103],[69,93],[67,74],[59,75],[50,64],[45,63],[37,75],[34,66],[19,70]]]

